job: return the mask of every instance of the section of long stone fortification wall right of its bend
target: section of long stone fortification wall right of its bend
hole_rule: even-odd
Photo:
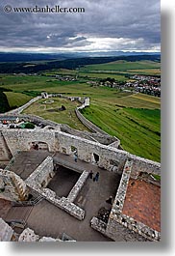
[[[71,155],[71,146],[73,146],[77,149],[79,158],[87,162],[95,162],[95,154],[99,156],[97,165],[104,169],[111,171],[113,168],[113,162],[118,164],[116,167],[122,169],[126,159],[130,158],[134,165],[132,173],[134,172],[135,174],[136,172],[139,173],[140,171],[144,171],[158,175],[161,174],[161,164],[158,162],[134,156],[128,152],[120,151],[113,147],[88,141],[87,139],[65,134],[63,132],[57,132],[56,137],[59,141],[60,152],[62,152],[62,148],[64,148],[66,150],[66,154]]]

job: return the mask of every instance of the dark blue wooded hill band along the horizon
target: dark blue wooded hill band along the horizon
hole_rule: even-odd
[[[39,55],[39,54],[38,54]],[[31,55],[32,56],[32,55]],[[38,56],[39,57],[39,56]],[[42,56],[43,57],[43,56]],[[54,55],[52,56],[54,58]],[[37,56],[36,56],[37,58]],[[47,60],[36,63],[31,62],[6,62],[0,63],[1,73],[38,73],[39,71],[47,71],[53,69],[67,69],[73,70],[92,64],[104,64],[118,60],[125,60],[130,62],[151,60],[160,62],[160,54],[146,54],[146,55],[131,55],[131,56],[111,56],[111,57],[85,57],[85,58],[67,58],[60,60]]]

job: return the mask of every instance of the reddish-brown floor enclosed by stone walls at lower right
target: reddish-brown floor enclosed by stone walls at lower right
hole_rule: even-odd
[[[161,232],[161,187],[130,179],[122,213]]]

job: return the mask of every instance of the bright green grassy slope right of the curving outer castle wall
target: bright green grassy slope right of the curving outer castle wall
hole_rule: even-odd
[[[128,96],[113,100],[91,100],[90,106],[82,113],[96,126],[118,137],[125,150],[137,156],[160,161],[160,103],[147,101],[151,99],[153,97],[141,100]]]

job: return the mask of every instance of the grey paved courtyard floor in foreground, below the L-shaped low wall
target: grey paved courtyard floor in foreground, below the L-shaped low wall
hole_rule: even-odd
[[[87,217],[82,221],[78,220],[46,200],[34,207],[27,224],[40,236],[61,238],[63,233],[66,233],[76,241],[111,241],[90,228]]]

